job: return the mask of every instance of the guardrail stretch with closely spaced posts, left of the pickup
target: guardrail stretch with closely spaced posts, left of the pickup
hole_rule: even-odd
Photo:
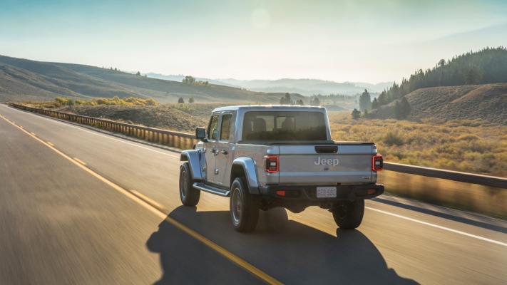
[[[56,112],[53,110],[32,108],[16,103],[9,103],[14,108],[21,110],[27,110],[32,113],[38,113],[41,115],[47,115],[53,118],[59,118],[62,120],[69,120],[74,123],[80,123],[83,125],[91,125],[96,128],[102,128],[104,130],[110,130],[116,133],[122,133],[129,135],[134,138],[140,138],[147,140],[148,142],[155,142],[160,145],[168,145],[170,147],[178,147],[181,149],[190,149],[198,142],[195,139],[195,135],[188,133],[172,132],[170,130],[160,130],[156,128],[147,128],[140,125],[131,125],[126,123],[118,123],[112,120],[103,120],[98,118],[91,118],[82,115],[73,115],[68,113]]]

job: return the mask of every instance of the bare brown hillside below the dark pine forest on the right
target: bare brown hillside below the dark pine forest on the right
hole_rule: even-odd
[[[483,119],[507,125],[507,83],[420,88],[405,97],[412,119]],[[369,117],[394,118],[394,105],[382,105]]]

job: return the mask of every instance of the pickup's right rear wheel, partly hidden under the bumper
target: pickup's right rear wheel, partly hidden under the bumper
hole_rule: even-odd
[[[344,202],[333,210],[334,222],[340,229],[355,229],[359,227],[364,215],[364,200]]]

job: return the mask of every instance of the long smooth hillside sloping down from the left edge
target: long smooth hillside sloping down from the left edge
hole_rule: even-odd
[[[212,83],[186,84],[137,76],[107,68],[72,63],[46,63],[0,56],[0,102],[68,98],[154,98],[176,103],[193,97],[196,103],[278,103],[284,93],[252,92]],[[303,98],[292,94],[292,99]]]

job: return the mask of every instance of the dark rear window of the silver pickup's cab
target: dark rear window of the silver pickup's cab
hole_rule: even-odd
[[[327,140],[324,113],[247,112],[243,119],[242,140]]]

